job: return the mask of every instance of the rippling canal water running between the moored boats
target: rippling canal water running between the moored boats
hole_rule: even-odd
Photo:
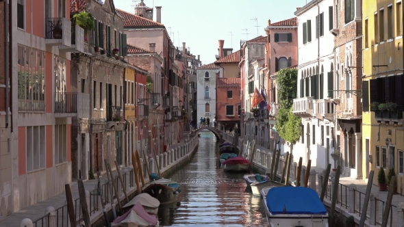
[[[181,193],[177,203],[160,206],[161,226],[266,226],[262,198],[253,196],[244,174],[218,169],[217,143],[202,131],[190,163],[171,176]]]

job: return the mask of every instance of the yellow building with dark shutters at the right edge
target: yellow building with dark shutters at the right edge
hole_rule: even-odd
[[[390,168],[403,187],[404,78],[402,2],[362,1],[364,76],[362,86],[363,172]],[[361,53],[357,53],[360,56]]]

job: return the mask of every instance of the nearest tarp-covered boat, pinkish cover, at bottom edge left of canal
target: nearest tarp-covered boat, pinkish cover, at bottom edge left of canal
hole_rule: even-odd
[[[147,213],[140,202],[136,202],[134,206],[120,217],[116,217],[111,223],[113,227],[129,227],[129,226],[159,226],[156,215]]]

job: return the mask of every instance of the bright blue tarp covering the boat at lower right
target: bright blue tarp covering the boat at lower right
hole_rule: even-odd
[[[316,191],[308,187],[273,187],[266,195],[266,204],[273,215],[327,214]]]

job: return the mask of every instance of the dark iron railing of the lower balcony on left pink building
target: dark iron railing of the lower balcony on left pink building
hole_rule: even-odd
[[[55,113],[77,113],[77,93],[55,92]]]

